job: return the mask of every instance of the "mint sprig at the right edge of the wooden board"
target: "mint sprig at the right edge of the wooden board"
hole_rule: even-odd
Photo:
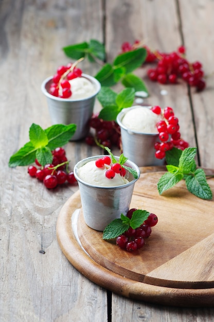
[[[205,172],[203,169],[197,169],[194,160],[197,148],[186,148],[182,152],[176,150],[178,149],[173,148],[173,152],[167,156],[167,163],[171,162],[172,164],[167,165],[168,172],[157,183],[159,194],[162,194],[184,179],[190,193],[198,198],[211,200],[212,191],[207,183]],[[179,162],[173,154],[180,155]]]

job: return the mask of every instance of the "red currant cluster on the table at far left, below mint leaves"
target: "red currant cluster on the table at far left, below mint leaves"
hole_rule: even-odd
[[[65,154],[65,150],[61,147],[56,148],[52,151],[52,155],[52,164],[46,164],[44,167],[42,167],[39,164],[38,160],[35,159],[35,164],[39,168],[37,168],[36,166],[29,166],[29,175],[38,178],[38,180],[42,181],[45,187],[48,189],[53,189],[57,185],[62,185],[65,182],[74,184],[76,182],[74,172],[68,172],[66,170],[68,160]]]

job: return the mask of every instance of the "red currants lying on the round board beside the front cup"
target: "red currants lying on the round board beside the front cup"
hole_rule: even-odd
[[[137,210],[132,208],[128,211],[127,217],[132,218],[132,213]],[[116,239],[116,244],[122,248],[126,249],[128,252],[134,252],[137,249],[142,248],[145,244],[146,238],[149,238],[152,232],[153,226],[158,222],[157,216],[154,213],[150,213],[149,217],[145,222],[138,228],[129,228],[122,235],[118,236]]]

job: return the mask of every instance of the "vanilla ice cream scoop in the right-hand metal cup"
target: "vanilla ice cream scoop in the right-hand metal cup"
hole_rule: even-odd
[[[140,133],[157,133],[156,123],[161,116],[153,113],[149,108],[136,105],[125,112],[121,122],[129,130]]]

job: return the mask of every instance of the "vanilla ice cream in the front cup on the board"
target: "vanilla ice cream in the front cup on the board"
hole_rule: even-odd
[[[121,186],[129,181],[121,176],[119,173],[115,173],[113,179],[109,179],[105,176],[105,171],[110,169],[111,166],[104,165],[102,168],[98,168],[95,165],[95,160],[87,162],[78,169],[78,176],[81,180],[91,185],[99,187],[114,187]]]

